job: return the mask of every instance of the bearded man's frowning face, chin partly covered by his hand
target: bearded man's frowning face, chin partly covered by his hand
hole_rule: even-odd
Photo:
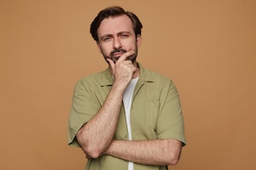
[[[105,59],[112,59],[116,63],[122,54],[133,50],[135,54],[129,59],[132,62],[136,60],[141,37],[135,36],[128,16],[120,15],[102,20],[97,34],[99,38],[97,46]]]

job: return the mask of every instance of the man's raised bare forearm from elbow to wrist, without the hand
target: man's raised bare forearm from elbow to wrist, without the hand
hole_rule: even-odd
[[[77,139],[86,155],[101,156],[111,144],[119,119],[122,93],[113,86],[101,110],[79,130]]]

